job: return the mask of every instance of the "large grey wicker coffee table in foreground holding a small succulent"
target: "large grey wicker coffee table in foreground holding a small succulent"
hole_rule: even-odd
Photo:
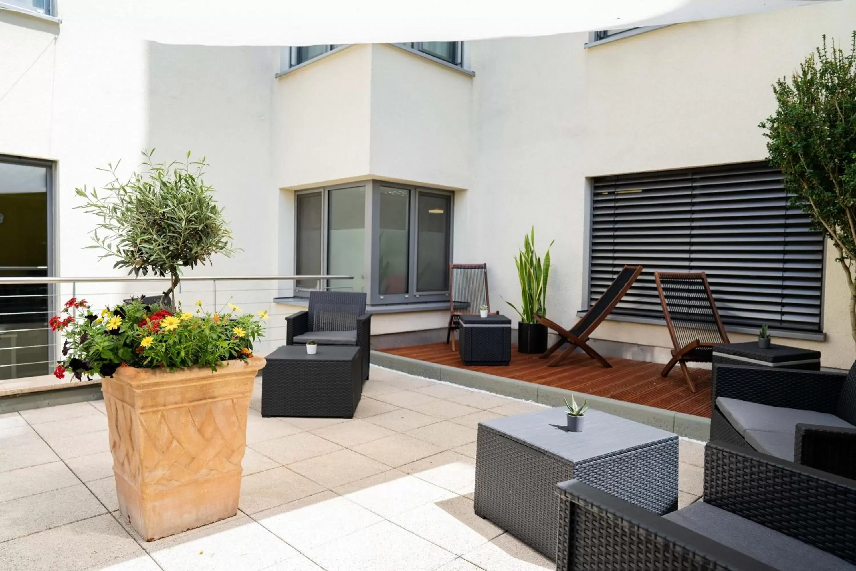
[[[655,514],[678,505],[678,437],[590,410],[568,432],[565,407],[479,423],[475,512],[556,558],[556,484],[580,479]]]

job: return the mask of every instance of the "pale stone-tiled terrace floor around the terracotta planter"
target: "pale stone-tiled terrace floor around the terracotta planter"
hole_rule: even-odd
[[[355,419],[247,421],[239,513],[151,543],[117,511],[104,401],[0,415],[0,569],[543,571],[473,514],[476,425],[541,406],[372,367]],[[681,505],[701,494],[681,440]]]

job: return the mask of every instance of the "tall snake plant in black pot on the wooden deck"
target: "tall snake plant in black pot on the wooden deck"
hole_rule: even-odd
[[[506,301],[518,315],[517,350],[520,353],[544,353],[547,350],[547,327],[538,323],[538,315],[547,312],[547,279],[550,277],[550,246],[544,261],[535,253],[535,227],[523,238],[523,249],[514,257],[520,279],[520,309]]]

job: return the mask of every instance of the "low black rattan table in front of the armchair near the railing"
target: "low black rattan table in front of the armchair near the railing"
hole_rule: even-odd
[[[269,354],[262,369],[262,416],[354,418],[363,394],[360,348],[286,345]]]

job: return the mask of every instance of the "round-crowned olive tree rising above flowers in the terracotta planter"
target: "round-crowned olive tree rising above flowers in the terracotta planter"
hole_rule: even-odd
[[[222,253],[231,256],[232,235],[217,206],[213,189],[203,181],[205,158],[185,162],[154,163],[152,151],[139,172],[127,180],[116,175],[116,165],[106,169],[112,180],[101,189],[76,188],[86,199],[76,208],[100,220],[92,230],[91,248],[101,248],[100,258],[116,258],[114,268],[128,268],[128,274],[169,276],[169,289],[161,303],[172,306],[182,268],[193,268]]]

